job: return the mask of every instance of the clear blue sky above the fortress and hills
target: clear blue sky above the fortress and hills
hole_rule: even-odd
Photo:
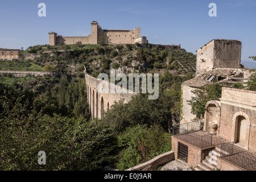
[[[46,4],[46,17],[38,16],[38,4]],[[210,17],[210,3],[217,17]],[[90,22],[102,29],[141,27],[152,44],[181,44],[196,53],[212,39],[242,42],[242,61],[256,56],[255,0],[8,0],[0,3],[0,47],[21,48],[48,44],[48,32],[63,36],[87,36]]]

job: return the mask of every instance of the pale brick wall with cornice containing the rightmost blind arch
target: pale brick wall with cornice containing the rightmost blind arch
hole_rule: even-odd
[[[256,92],[222,88],[219,137],[256,152]]]

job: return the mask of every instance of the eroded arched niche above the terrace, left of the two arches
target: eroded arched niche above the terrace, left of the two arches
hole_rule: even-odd
[[[220,101],[207,102],[205,109],[207,110],[204,113],[204,131],[218,135],[221,115]]]

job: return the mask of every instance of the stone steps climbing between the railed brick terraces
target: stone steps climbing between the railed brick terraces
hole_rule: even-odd
[[[220,146],[216,146],[212,152],[214,152],[217,156],[217,160],[218,158],[220,158],[220,152],[221,152],[221,147]],[[196,171],[216,171],[217,170],[217,166],[215,164],[210,164],[209,160],[212,156],[208,155],[205,157],[205,159],[199,163],[196,167],[195,170]]]

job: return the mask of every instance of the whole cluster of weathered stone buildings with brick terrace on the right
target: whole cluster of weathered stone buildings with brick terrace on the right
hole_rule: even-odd
[[[241,42],[212,40],[197,51],[196,77],[182,84],[183,119],[173,128],[175,160],[196,171],[256,170],[256,92],[222,87],[221,98],[205,105],[195,121],[192,90],[212,84],[245,84],[253,73],[240,68]],[[202,125],[203,124],[203,125]]]

